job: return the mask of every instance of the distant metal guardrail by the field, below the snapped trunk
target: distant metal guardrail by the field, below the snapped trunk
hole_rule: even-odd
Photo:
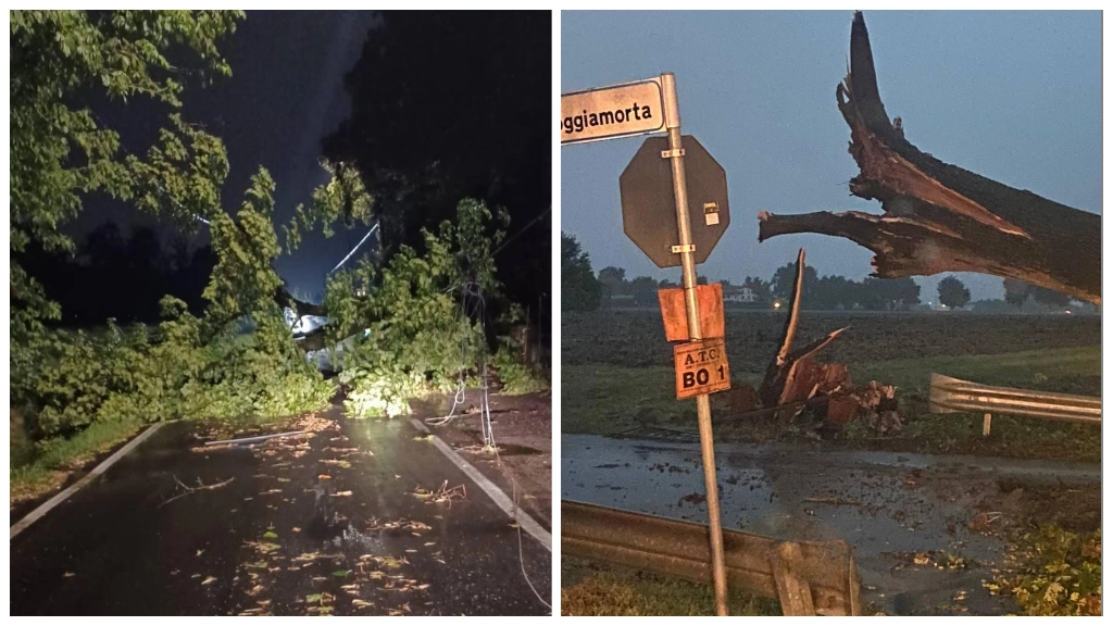
[[[989,387],[932,374],[933,413],[984,413],[982,434],[989,434],[993,414],[1022,415],[1077,423],[1102,423],[1102,399],[1091,395]]]

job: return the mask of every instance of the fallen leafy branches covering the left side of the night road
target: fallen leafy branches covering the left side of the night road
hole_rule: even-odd
[[[37,434],[68,436],[114,421],[279,417],[327,403],[331,387],[306,363],[274,301],[282,281],[270,266],[280,252],[273,193],[260,169],[237,219],[214,218],[217,265],[204,317],[166,297],[157,329],[124,330],[109,321],[96,334],[43,334],[35,351],[39,366],[22,366],[21,384],[13,385],[17,401],[40,409]],[[243,322],[254,332],[237,334]]]

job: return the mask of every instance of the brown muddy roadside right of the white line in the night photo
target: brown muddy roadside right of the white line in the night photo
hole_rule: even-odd
[[[480,426],[481,390],[467,390],[459,417],[432,426],[452,411],[452,394],[411,400],[414,418],[499,486],[522,510],[552,530],[552,395],[491,394],[491,429],[498,454],[483,452]]]

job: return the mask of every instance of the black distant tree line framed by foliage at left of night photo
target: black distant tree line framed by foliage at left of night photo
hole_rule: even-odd
[[[183,237],[164,243],[151,228],[125,234],[107,222],[89,232],[76,253],[47,253],[30,246],[21,262],[61,304],[63,326],[87,327],[115,317],[119,323],[155,323],[159,300],[173,295],[199,315],[201,292],[217,256],[213,247],[190,247]]]

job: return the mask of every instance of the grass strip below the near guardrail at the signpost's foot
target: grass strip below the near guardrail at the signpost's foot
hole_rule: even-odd
[[[637,569],[561,557],[562,616],[715,615],[710,585]],[[731,591],[730,615],[780,615],[777,600]]]

